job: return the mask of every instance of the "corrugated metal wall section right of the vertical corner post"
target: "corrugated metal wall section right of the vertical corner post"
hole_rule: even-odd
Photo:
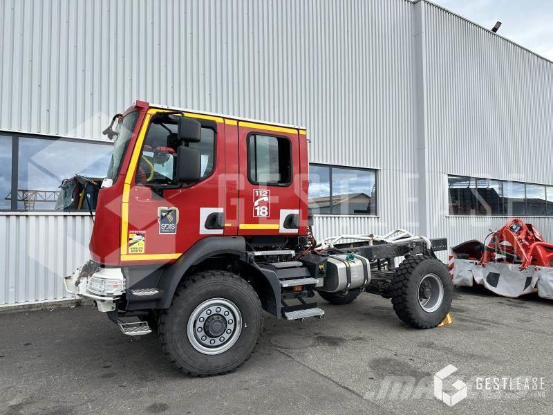
[[[447,174],[552,184],[553,63],[431,3],[422,8],[431,237],[482,239],[507,217],[447,216]],[[553,240],[553,218],[526,217]]]

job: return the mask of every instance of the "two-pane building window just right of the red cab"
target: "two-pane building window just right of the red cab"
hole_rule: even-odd
[[[376,215],[376,171],[312,164],[309,208],[313,214]]]

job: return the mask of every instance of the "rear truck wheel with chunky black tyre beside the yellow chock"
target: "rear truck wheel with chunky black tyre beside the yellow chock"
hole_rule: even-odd
[[[429,291],[426,288],[430,288]],[[449,312],[452,296],[451,276],[438,259],[409,257],[395,270],[392,279],[393,309],[397,317],[410,326],[417,329],[438,326]]]

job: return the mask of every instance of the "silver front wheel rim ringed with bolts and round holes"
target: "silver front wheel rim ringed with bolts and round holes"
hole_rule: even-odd
[[[225,298],[203,302],[188,319],[188,340],[200,353],[216,355],[232,347],[242,331],[242,315],[236,305]]]

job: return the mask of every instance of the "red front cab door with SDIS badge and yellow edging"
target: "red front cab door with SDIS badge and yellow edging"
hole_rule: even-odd
[[[225,142],[223,119],[185,113],[202,124],[189,147],[201,157],[196,183],[177,183],[175,120],[150,109],[133,149],[122,208],[121,261],[174,261],[200,239],[223,234]]]

